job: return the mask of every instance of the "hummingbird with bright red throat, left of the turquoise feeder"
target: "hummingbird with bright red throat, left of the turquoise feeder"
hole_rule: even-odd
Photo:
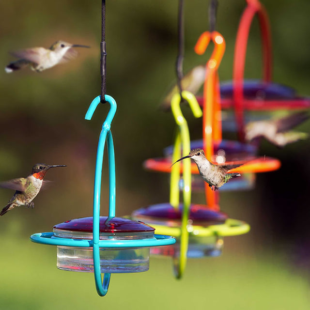
[[[35,164],[28,177],[1,182],[1,187],[15,189],[16,192],[8,204],[2,209],[0,216],[4,215],[11,209],[22,205],[26,208],[33,208],[34,203],[32,200],[38,195],[47,170],[55,167],[66,167],[66,165],[50,166],[47,164]]]

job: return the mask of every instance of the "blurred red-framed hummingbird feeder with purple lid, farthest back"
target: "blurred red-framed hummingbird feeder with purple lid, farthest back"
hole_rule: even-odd
[[[225,130],[237,128],[240,141],[244,141],[245,121],[253,119],[252,111],[300,110],[310,108],[310,98],[300,97],[291,87],[272,82],[271,33],[267,12],[259,0],[247,0],[238,27],[233,60],[233,81],[220,85],[220,106],[234,109],[235,122],[223,123]],[[245,80],[244,70],[248,34],[254,16],[258,16],[263,50],[263,79]],[[203,105],[203,98],[197,98]],[[245,115],[245,111],[247,114]],[[250,113],[250,114],[249,114]],[[261,116],[262,117],[262,116]],[[257,118],[257,117],[256,117]]]

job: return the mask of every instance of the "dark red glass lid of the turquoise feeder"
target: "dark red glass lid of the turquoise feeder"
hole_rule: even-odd
[[[73,232],[93,232],[93,217],[81,217],[70,219],[54,226],[54,229]],[[155,228],[129,218],[124,217],[100,217],[100,233],[131,233],[153,232]]]

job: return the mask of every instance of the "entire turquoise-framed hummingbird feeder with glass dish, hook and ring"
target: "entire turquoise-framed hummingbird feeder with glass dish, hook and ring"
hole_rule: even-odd
[[[58,268],[93,271],[97,293],[100,296],[108,292],[111,273],[147,271],[150,247],[167,246],[176,242],[174,237],[154,234],[155,229],[143,222],[115,217],[115,156],[111,122],[116,112],[116,102],[109,95],[105,95],[105,99],[110,109],[102,125],[97,148],[93,217],[69,220],[55,225],[53,232],[35,233],[30,237],[32,242],[57,246]],[[86,120],[92,119],[99,104],[100,96],[97,96],[86,113]],[[109,159],[109,216],[100,217],[102,164],[106,140]],[[90,252],[91,257],[89,257]],[[109,253],[110,261],[102,258],[106,252]],[[111,255],[114,255],[112,260]],[[79,260],[83,263],[79,264]],[[133,264],[131,260],[140,263]],[[105,266],[102,266],[103,261],[106,263]]]

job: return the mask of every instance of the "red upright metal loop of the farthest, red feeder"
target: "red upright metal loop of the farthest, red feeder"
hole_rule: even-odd
[[[248,34],[254,16],[260,24],[263,49],[263,81],[270,82],[272,76],[271,31],[267,12],[259,0],[247,0],[238,27],[233,57],[233,101],[239,140],[244,141],[243,80],[246,63]]]

